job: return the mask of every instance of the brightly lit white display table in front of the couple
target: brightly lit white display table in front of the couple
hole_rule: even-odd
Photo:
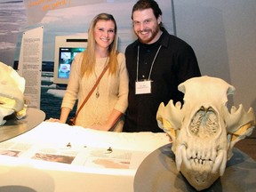
[[[132,192],[135,173],[164,132],[100,132],[43,122],[0,143],[0,191]]]

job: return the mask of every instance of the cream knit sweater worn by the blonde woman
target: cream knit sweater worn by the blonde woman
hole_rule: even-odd
[[[78,53],[71,65],[67,91],[64,94],[61,108],[74,108],[76,98],[77,108],[81,106],[86,95],[91,91],[101,71],[105,67],[108,58],[96,59],[95,73],[89,77],[80,77],[80,68],[83,60],[83,53]],[[104,124],[112,110],[124,113],[128,106],[128,73],[125,65],[124,53],[119,52],[117,56],[118,69],[116,75],[108,75],[108,70],[101,78],[98,88],[92,92],[84,108],[76,118],[76,125],[91,127],[92,124]],[[97,89],[100,97],[96,98]]]

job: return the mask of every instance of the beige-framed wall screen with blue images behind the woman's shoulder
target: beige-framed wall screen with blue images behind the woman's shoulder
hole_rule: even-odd
[[[87,36],[56,36],[54,55],[54,84],[68,84],[72,61],[79,52],[84,52]]]

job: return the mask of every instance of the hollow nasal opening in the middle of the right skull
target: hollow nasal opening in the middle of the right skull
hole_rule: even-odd
[[[199,137],[211,137],[218,132],[219,120],[213,108],[201,107],[190,123],[190,132]]]

